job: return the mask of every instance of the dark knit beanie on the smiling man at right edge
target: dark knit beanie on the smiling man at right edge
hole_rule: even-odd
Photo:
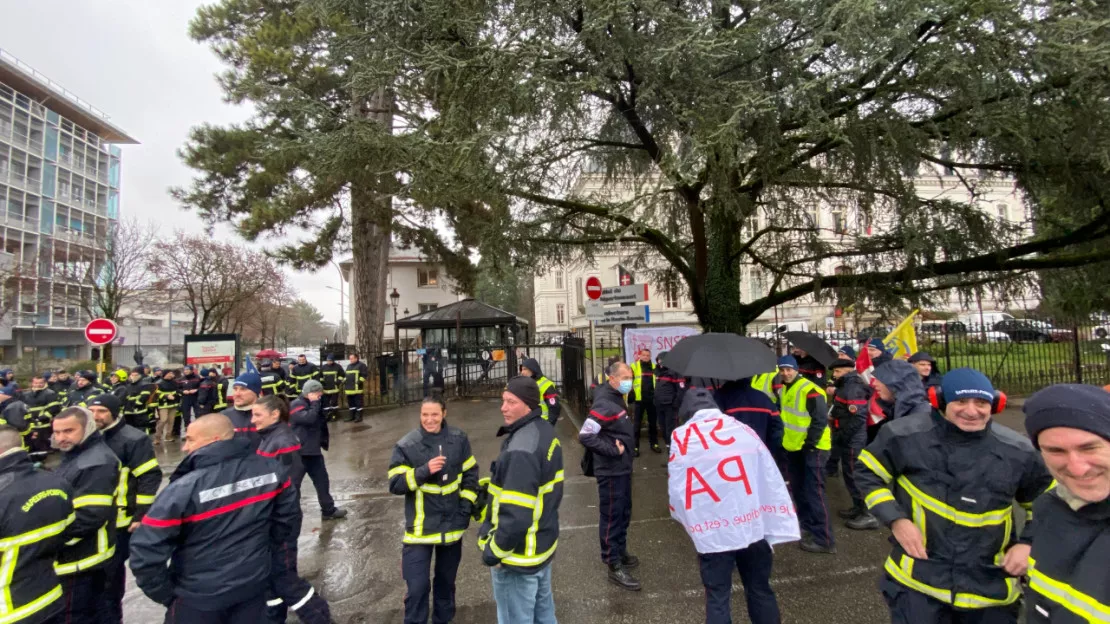
[[[1110,440],[1110,392],[1093,385],[1060,383],[1033,394],[1022,409],[1026,431],[1040,449],[1037,435],[1046,429],[1081,429]]]

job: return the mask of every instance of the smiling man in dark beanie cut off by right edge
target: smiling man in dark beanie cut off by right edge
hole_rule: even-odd
[[[1026,507],[1030,624],[1110,621],[1110,393],[1049,386],[1026,401],[1026,429],[1058,485]]]

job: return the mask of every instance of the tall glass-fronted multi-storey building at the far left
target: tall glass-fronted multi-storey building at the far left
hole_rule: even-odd
[[[12,361],[88,356],[80,302],[119,219],[120,149],[108,115],[0,50],[0,348]]]

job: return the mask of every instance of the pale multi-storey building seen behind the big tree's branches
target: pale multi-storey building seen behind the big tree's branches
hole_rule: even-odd
[[[924,199],[948,199],[963,203],[973,201],[976,205],[993,218],[1013,224],[1025,224],[1028,228],[1026,205],[1012,180],[982,178],[977,183],[976,194],[972,197],[955,175],[955,172],[928,170],[915,180],[917,192]],[[606,181],[603,175],[588,172],[579,177],[574,188],[574,194],[577,197],[619,198],[628,197],[632,192],[630,187],[623,190],[619,187],[615,188],[612,180]],[[856,219],[852,209],[847,207],[815,203],[810,219],[814,227],[821,231],[823,238],[829,240],[841,235],[867,235],[870,233],[855,231],[865,227],[858,224],[861,223],[861,220]],[[753,222],[747,224],[756,231],[766,225],[763,215],[756,217]],[[880,229],[882,225],[877,222],[872,227]],[[637,274],[637,282],[650,282],[643,276],[643,273],[649,268],[665,266],[665,261],[659,256],[649,256],[644,262],[650,266],[644,266],[643,263],[637,265],[637,260],[643,260],[639,258],[642,255],[639,251],[635,245],[610,245],[597,251],[592,262],[584,260],[572,262],[537,274],[535,276],[536,333],[538,335],[563,333],[589,326],[585,313],[585,282],[591,276],[599,278],[603,286],[618,285],[617,266],[623,265]],[[834,274],[837,270],[836,261],[827,261],[820,266],[823,274]],[[743,302],[763,298],[769,284],[769,275],[764,274],[759,268],[741,266],[740,300]],[[686,294],[684,284],[650,284],[648,294],[652,324],[697,324],[694,305]],[[1037,305],[1037,301],[1030,295],[1018,304],[1019,306],[1032,308]],[[986,309],[992,309],[1001,304],[985,296],[981,305]],[[806,321],[813,329],[825,329],[826,323],[834,319],[834,308],[831,303],[815,302],[807,296],[783,304],[777,310],[764,312],[759,321],[766,323]],[[961,310],[957,293],[951,292],[947,305],[942,308],[947,311]],[[756,325],[760,324],[763,323],[756,323]]]

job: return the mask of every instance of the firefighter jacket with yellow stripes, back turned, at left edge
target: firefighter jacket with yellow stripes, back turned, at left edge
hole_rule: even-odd
[[[54,560],[72,522],[65,480],[34,470],[26,451],[0,455],[0,622],[37,624],[62,608]]]

